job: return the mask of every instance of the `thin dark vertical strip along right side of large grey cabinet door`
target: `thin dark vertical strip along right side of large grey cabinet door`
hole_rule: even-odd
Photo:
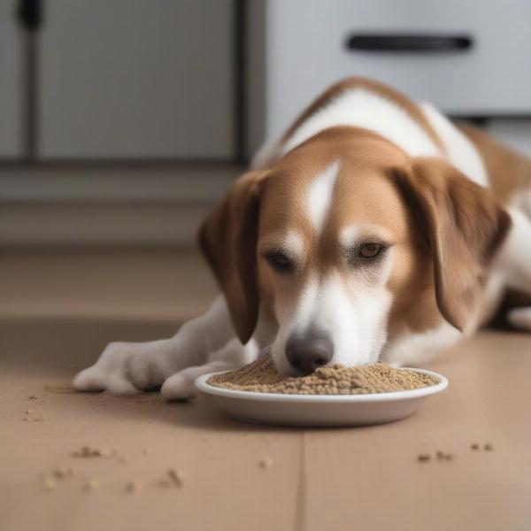
[[[247,0],[234,0],[234,111],[235,111],[235,160],[246,159],[246,47],[247,47]]]

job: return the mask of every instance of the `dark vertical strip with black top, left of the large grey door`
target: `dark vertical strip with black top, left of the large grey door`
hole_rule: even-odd
[[[35,160],[37,156],[38,131],[38,37],[42,26],[42,0],[19,0],[17,14],[23,30],[23,80],[22,144],[25,157]]]

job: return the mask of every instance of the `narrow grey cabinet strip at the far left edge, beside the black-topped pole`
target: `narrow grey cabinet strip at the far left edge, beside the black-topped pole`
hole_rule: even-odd
[[[0,157],[22,154],[22,35],[15,3],[0,0]]]

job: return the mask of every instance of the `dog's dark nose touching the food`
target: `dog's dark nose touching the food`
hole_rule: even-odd
[[[334,355],[334,344],[323,333],[292,335],[286,344],[286,357],[299,373],[310,374],[327,365]]]

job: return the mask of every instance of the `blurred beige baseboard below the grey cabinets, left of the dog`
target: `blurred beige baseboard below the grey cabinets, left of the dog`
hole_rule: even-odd
[[[242,169],[236,165],[4,168],[0,244],[178,244]]]

